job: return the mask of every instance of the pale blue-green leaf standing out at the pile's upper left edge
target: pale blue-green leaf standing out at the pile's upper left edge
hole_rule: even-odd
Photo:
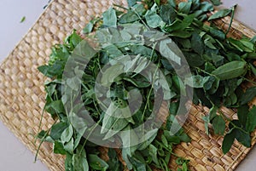
[[[103,25],[104,26],[117,26],[117,16],[113,8],[108,9],[103,14]]]

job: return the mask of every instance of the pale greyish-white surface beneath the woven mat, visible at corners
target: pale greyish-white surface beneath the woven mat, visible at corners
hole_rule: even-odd
[[[0,61],[19,43],[48,0],[0,0]],[[236,19],[256,30],[255,0],[224,0],[224,6],[238,3]],[[23,16],[26,20],[20,23]],[[0,171],[49,171],[41,162],[33,163],[34,155],[0,122]],[[252,170],[256,148],[241,162],[237,171]],[[253,169],[254,170],[254,169]]]

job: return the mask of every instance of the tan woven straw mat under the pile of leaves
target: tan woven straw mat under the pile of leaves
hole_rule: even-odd
[[[44,77],[37,67],[44,65],[51,52],[50,48],[62,40],[73,29],[81,31],[92,16],[102,14],[116,3],[125,6],[125,0],[55,0],[49,4],[44,14],[32,29],[15,47],[8,58],[0,66],[0,118],[3,123],[34,153],[38,144],[34,144],[32,134],[38,133],[41,112],[44,108]],[[218,26],[227,28],[229,18],[218,21]],[[230,33],[233,37],[256,35],[236,21]],[[236,117],[236,112],[223,109],[229,117]],[[190,159],[191,170],[234,170],[248,151],[236,142],[227,155],[221,151],[222,137],[208,137],[204,133],[201,116],[207,109],[193,106],[185,130],[192,138],[191,143],[177,145],[178,155]],[[43,128],[49,128],[53,120],[44,114]],[[253,137],[256,134],[253,134]],[[253,145],[255,144],[253,139]],[[64,157],[55,155],[51,145],[44,143],[39,158],[50,170],[64,171]],[[170,163],[170,168],[176,164]]]

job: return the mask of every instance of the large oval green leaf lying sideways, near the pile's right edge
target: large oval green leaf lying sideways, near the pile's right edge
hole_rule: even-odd
[[[245,73],[247,62],[245,61],[231,61],[219,66],[216,70],[212,71],[212,74],[218,77],[220,80],[231,79],[239,77]]]

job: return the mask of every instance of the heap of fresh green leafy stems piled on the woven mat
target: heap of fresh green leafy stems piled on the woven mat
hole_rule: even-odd
[[[218,3],[218,1],[214,2]],[[174,145],[190,140],[182,128],[174,135],[170,133],[170,128],[177,114],[180,97],[186,96],[185,89],[192,87],[195,91],[193,102],[201,103],[211,109],[209,114],[202,118],[206,123],[207,134],[209,134],[208,125],[211,124],[215,134],[224,135],[224,153],[230,150],[235,139],[249,147],[251,145],[250,133],[256,127],[256,107],[249,106],[248,103],[255,97],[256,87],[245,90],[242,84],[250,81],[246,77],[256,75],[256,67],[253,65],[256,59],[256,38],[242,37],[236,40],[226,37],[224,31],[212,25],[212,20],[234,14],[235,8],[221,10],[208,17],[207,13],[213,10],[212,3],[199,0],[189,0],[178,5],[172,0],[165,4],[160,4],[157,0],[144,3],[129,0],[128,4],[129,9],[125,9],[125,12],[118,10],[123,7],[110,8],[102,14],[102,18],[91,20],[84,27],[84,34],[96,29],[96,37],[102,48],[98,52],[94,52],[92,48],[80,48],[80,54],[95,53],[84,70],[78,71],[73,68],[75,73],[82,73],[82,79],[69,77],[66,80],[67,83],[63,83],[61,79],[67,60],[73,54],[74,48],[81,46],[83,40],[75,31],[67,37],[65,43],[57,44],[52,48],[48,65],[38,67],[44,76],[50,78],[50,81],[45,83],[47,96],[44,109],[55,118],[52,127],[41,131],[38,139],[41,142],[53,143],[56,154],[66,155],[66,171],[112,171],[123,170],[124,167],[139,171],[152,168],[170,170],[168,163],[171,157],[177,157],[172,151]],[[210,25],[204,24],[205,21],[209,21]],[[100,26],[95,28],[96,24]],[[145,32],[153,28],[163,34],[154,35],[155,32],[151,34]],[[141,37],[136,37],[136,35]],[[165,35],[172,38],[182,50],[193,73],[192,77],[185,79],[177,77],[177,73],[168,61],[160,52],[154,50],[152,44],[156,46],[156,42],[161,44],[163,42],[161,40],[164,40],[161,37]],[[143,39],[150,39],[151,44],[144,43]],[[167,45],[160,47],[162,47],[160,51],[170,48]],[[114,109],[109,110],[114,112],[116,108],[124,108],[129,103],[136,104],[140,95],[137,91],[133,91],[135,89],[142,94],[143,102],[132,117],[109,119],[108,117],[111,116],[105,115],[105,111],[102,111],[100,105],[97,104],[94,89],[96,77],[109,61],[111,63],[118,57],[129,57],[129,55],[143,56],[154,62],[164,73],[167,84],[161,85],[162,89],[157,89],[159,87],[157,83],[160,83],[160,80],[155,81],[155,75],[160,73],[148,73],[151,77],[146,78],[127,69],[127,72],[112,80],[108,98],[114,102],[115,106]],[[177,63],[178,56],[176,57],[172,60]],[[132,61],[137,63],[138,59],[141,58],[135,58]],[[120,65],[131,68],[131,63],[123,62]],[[144,62],[144,65],[147,66],[147,62]],[[141,67],[137,66],[133,69],[140,71]],[[116,68],[116,71],[118,70],[119,68]],[[107,73],[105,75],[114,75],[116,71],[112,68],[112,70],[105,71]],[[81,97],[87,111],[84,111],[81,105],[75,105],[72,106],[71,112],[67,110],[67,106],[70,107],[70,101],[73,103],[79,98],[79,96],[72,95],[76,94],[75,92],[79,89],[76,85],[78,82],[82,85]],[[109,80],[105,82],[108,83]],[[63,84],[69,85],[66,89],[71,94],[69,97],[61,93]],[[144,137],[138,137],[133,128],[137,128],[145,120],[157,118],[157,111],[153,111],[154,96],[160,94],[166,86],[169,86],[171,93],[165,94],[165,99],[172,102],[170,113],[166,116],[166,124],[161,128],[155,128],[154,124],[150,125],[149,128],[142,130],[145,131]],[[156,88],[155,91],[153,91],[154,88]],[[128,94],[128,92],[133,92],[133,94]],[[219,110],[223,105],[237,109],[238,119],[232,120],[226,117]],[[150,116],[151,112],[155,112],[154,117]],[[87,115],[90,115],[102,128],[108,130],[114,128],[117,132],[130,130],[125,132],[127,134],[119,136],[121,143],[125,146],[129,146],[131,141],[131,144],[141,139],[147,141],[122,149],[125,166],[119,162],[113,149],[108,151],[110,159],[103,161],[99,157],[98,145],[83,137],[85,132],[90,132],[95,128],[95,125],[91,125],[86,120]],[[125,113],[120,113],[120,115],[125,115]],[[71,122],[70,119],[76,122]],[[226,122],[229,123],[229,128],[225,127]],[[100,134],[102,139],[109,141],[117,136],[106,130],[102,130]],[[178,170],[189,170],[189,161],[177,157],[176,162],[180,165]]]

